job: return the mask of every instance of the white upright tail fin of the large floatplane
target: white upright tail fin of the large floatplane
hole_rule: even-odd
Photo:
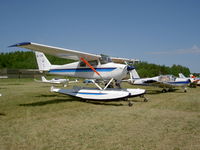
[[[46,58],[44,53],[41,52],[35,52],[38,68],[40,71],[48,71],[51,68],[51,63]]]

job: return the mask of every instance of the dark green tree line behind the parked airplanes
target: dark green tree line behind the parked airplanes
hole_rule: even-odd
[[[67,64],[74,62],[70,59],[58,58],[51,55],[46,55],[52,64]],[[151,64],[147,62],[140,62],[134,65],[140,77],[153,77],[157,75],[172,74],[178,76],[178,73],[183,73],[189,76],[190,70],[181,65],[172,65],[171,67],[165,65]],[[0,53],[0,68],[9,69],[37,69],[37,62],[35,53],[32,51],[15,51],[10,53]]]

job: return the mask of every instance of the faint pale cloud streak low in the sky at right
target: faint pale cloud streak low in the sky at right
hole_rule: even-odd
[[[190,49],[178,49],[174,51],[155,51],[155,52],[148,52],[147,54],[152,55],[182,55],[182,54],[200,54],[200,48],[194,45]]]

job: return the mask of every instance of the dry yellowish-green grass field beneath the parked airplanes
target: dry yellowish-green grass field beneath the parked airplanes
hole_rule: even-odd
[[[1,150],[198,150],[200,87],[160,93],[150,101],[81,102],[30,79],[0,80]],[[131,87],[124,84],[124,87]]]

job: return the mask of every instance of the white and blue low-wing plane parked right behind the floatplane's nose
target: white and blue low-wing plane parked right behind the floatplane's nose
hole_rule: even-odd
[[[140,78],[135,69],[130,71],[130,79],[126,80],[134,85],[157,86],[162,89],[162,92],[167,92],[175,87],[182,87],[184,92],[187,92],[187,86],[190,84],[189,79],[177,78],[173,75],[160,75],[152,78]]]

